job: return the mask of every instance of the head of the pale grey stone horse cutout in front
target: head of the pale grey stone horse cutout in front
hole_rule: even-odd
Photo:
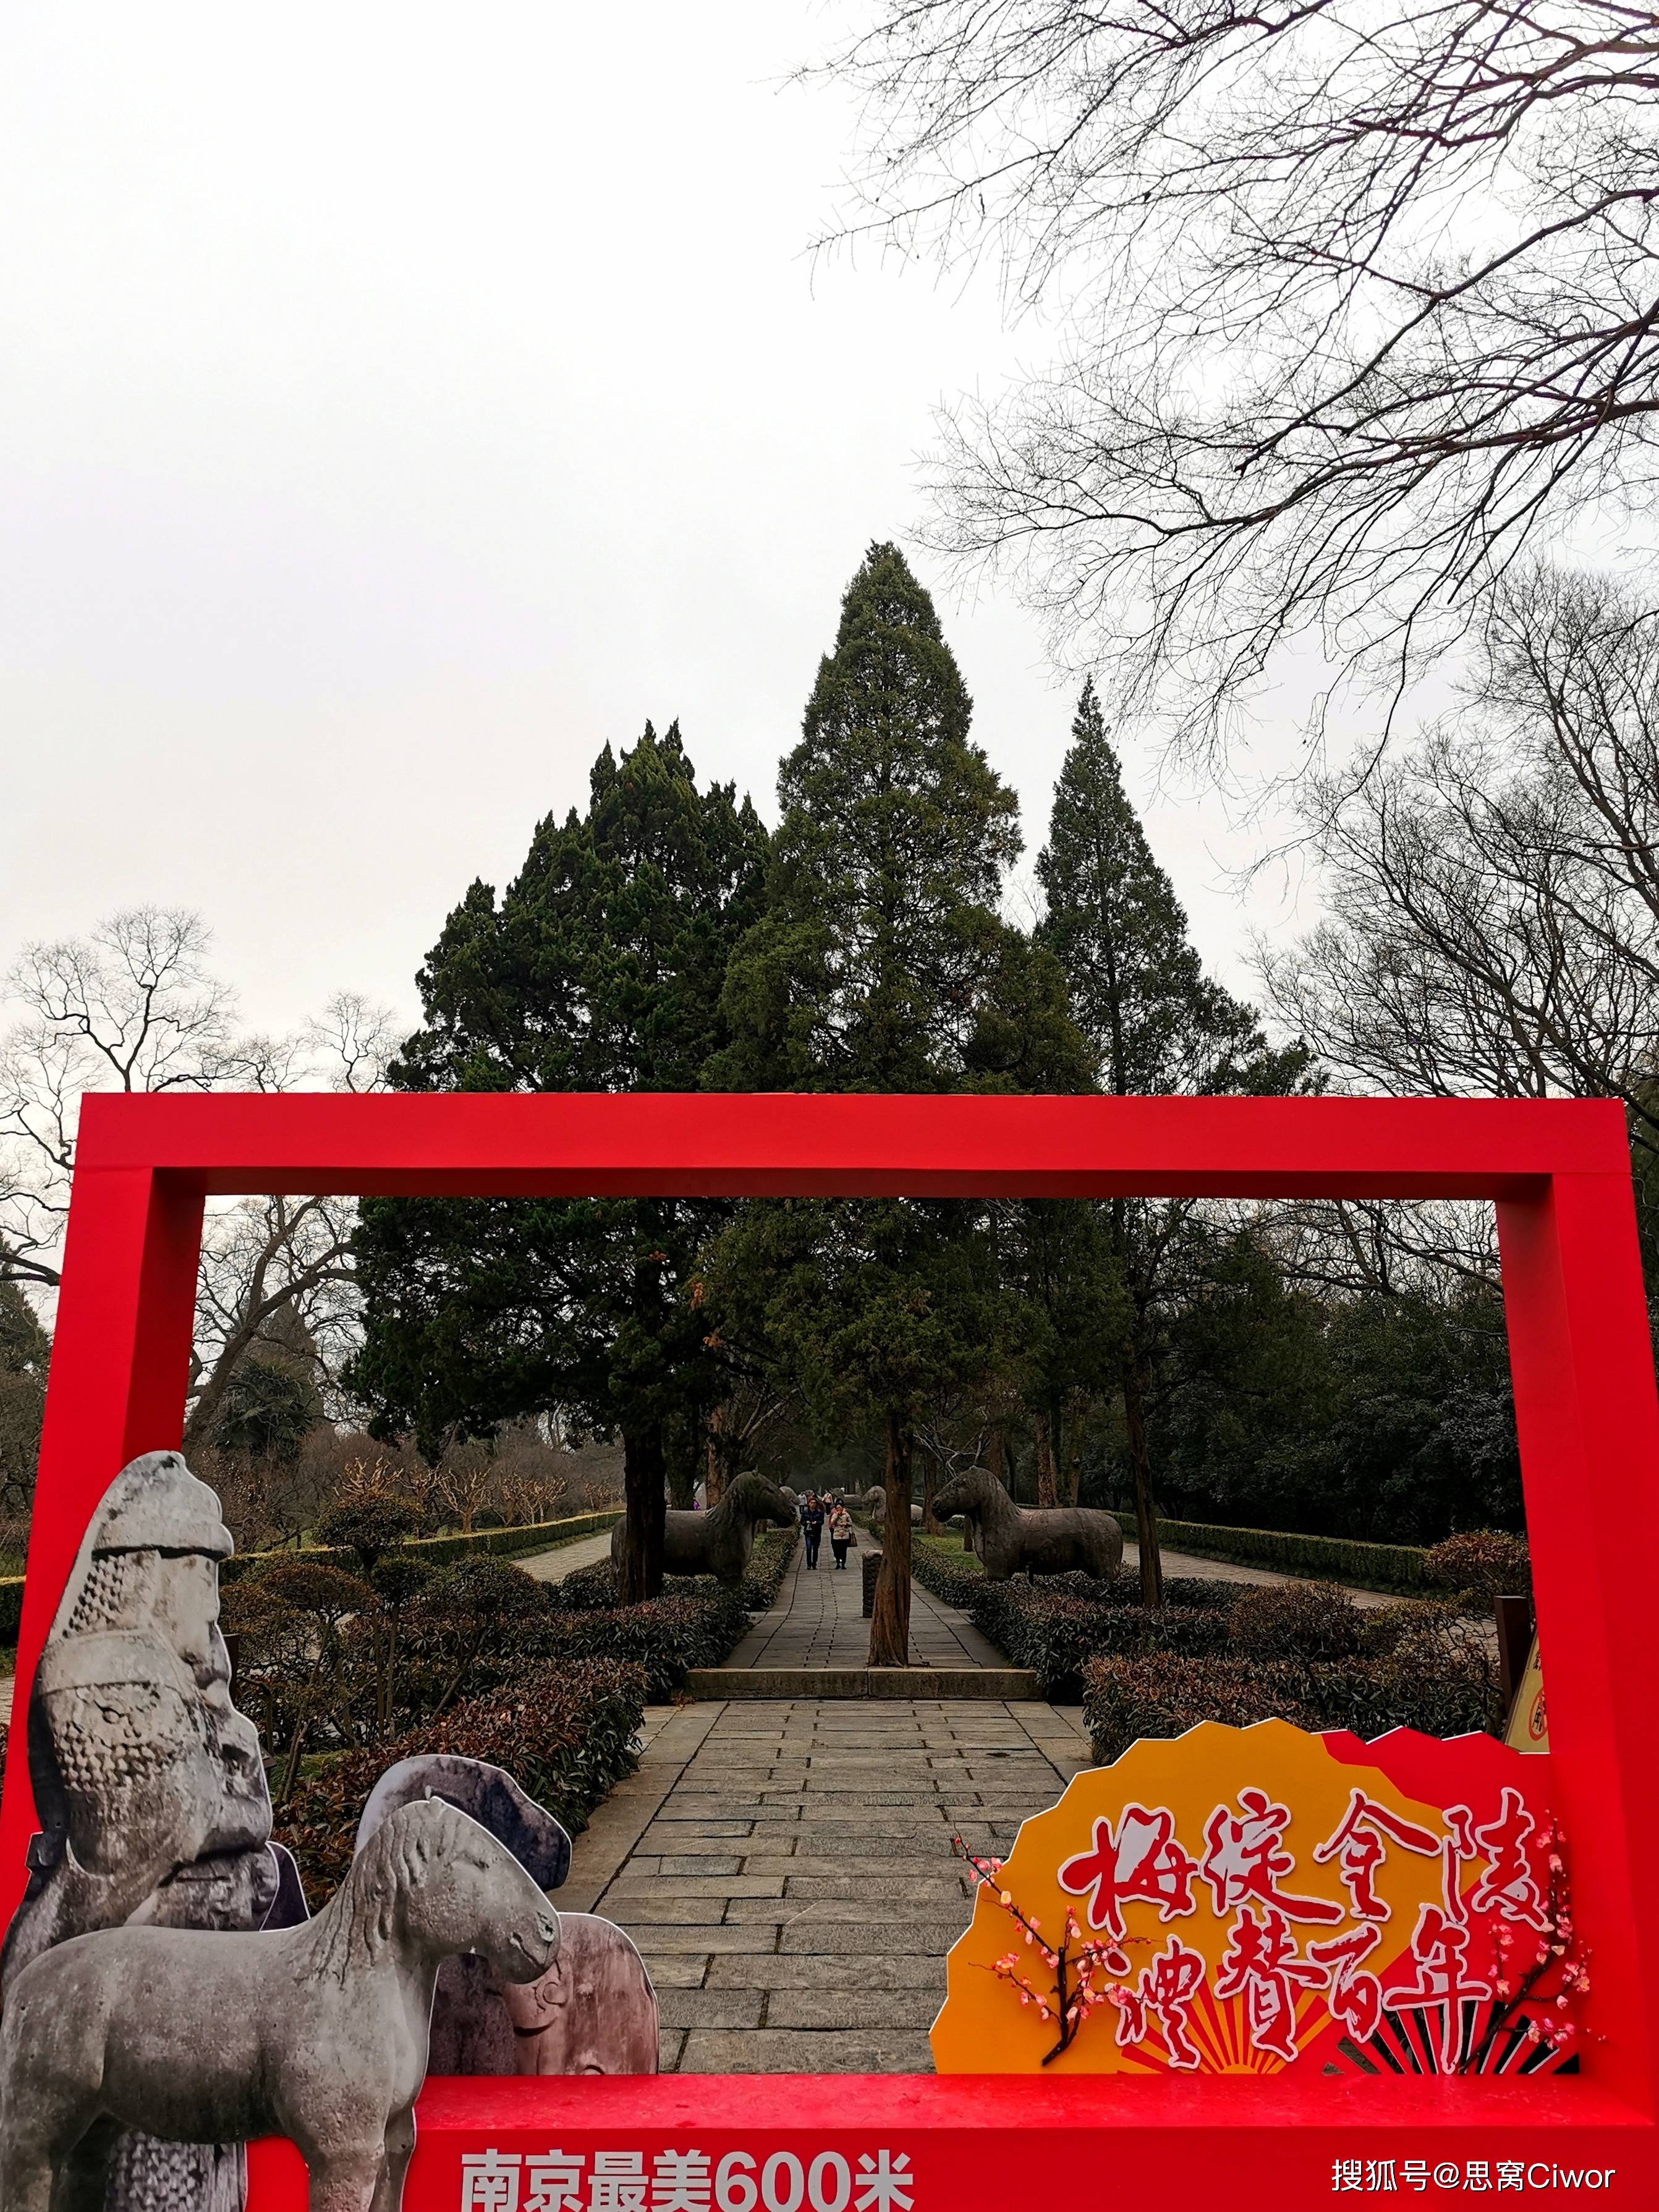
[[[403,1936],[431,1958],[476,1951],[502,1982],[533,1982],[560,1949],[560,1916],[513,1854],[442,1798],[383,1820],[345,1889],[369,1953]]]

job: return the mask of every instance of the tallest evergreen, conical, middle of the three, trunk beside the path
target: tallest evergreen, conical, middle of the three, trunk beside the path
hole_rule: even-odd
[[[787,1091],[1077,1088],[1086,1051],[1051,956],[995,911],[1018,801],[969,739],[933,602],[874,544],[779,772],[770,900],[726,982],[710,1082]],[[995,1358],[984,1217],[902,1199],[754,1208],[712,1254],[726,1310],[770,1340],[821,1422],[880,1427],[872,1666],[909,1657],[918,1411]]]

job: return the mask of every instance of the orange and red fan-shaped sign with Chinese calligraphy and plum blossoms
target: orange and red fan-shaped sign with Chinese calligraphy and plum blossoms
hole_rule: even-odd
[[[1533,2073],[1573,2059],[1548,1761],[1206,1723],[973,1860],[940,2073]]]

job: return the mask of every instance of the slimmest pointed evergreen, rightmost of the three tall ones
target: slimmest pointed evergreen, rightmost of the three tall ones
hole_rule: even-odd
[[[1256,1013],[1203,973],[1175,885],[1152,858],[1124,790],[1093,681],[1077,701],[1037,878],[1046,894],[1037,936],[1066,971],[1073,1013],[1097,1053],[1104,1091],[1128,1097],[1296,1086],[1307,1055],[1270,1051]],[[1172,1201],[1115,1199],[1108,1219],[1128,1296],[1121,1394],[1141,1597],[1155,1606],[1164,1599],[1164,1575],[1146,1409],[1159,1314],[1194,1263],[1192,1210]]]

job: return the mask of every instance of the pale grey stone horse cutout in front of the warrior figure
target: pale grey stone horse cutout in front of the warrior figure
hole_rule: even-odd
[[[502,1982],[535,1982],[557,1947],[529,1874],[440,1798],[394,1812],[303,1927],[58,1944],[7,1989],[0,2201],[51,2212],[69,2154],[115,2124],[175,2143],[285,2135],[312,2212],[398,2212],[440,1962],[482,1951]]]

